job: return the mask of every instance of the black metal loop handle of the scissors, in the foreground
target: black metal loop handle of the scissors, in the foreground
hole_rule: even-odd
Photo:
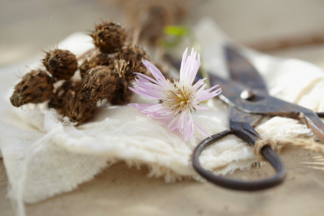
[[[206,147],[213,144],[215,141],[226,137],[229,134],[233,134],[233,132],[231,130],[226,130],[215,134],[211,137],[204,139],[195,148],[195,150],[193,151],[192,163],[195,170],[201,176],[203,176],[207,181],[210,181],[216,185],[234,190],[261,190],[272,186],[276,186],[284,181],[284,177],[286,175],[284,164],[281,161],[279,155],[274,150],[272,150],[270,146],[264,146],[261,149],[261,154],[263,155],[263,157],[268,162],[270,162],[273,168],[276,170],[276,174],[270,178],[248,182],[224,178],[219,175],[215,175],[208,170],[205,170],[199,162],[199,156]]]

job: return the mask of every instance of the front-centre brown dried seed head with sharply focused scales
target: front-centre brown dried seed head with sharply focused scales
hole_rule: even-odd
[[[80,98],[87,101],[100,101],[116,89],[117,77],[109,66],[95,66],[87,71],[82,79]]]

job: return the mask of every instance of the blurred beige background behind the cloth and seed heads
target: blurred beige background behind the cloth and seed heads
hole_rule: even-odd
[[[324,68],[322,0],[188,0],[179,4],[186,11],[181,24],[192,26],[202,17],[211,17],[237,42]],[[142,6],[138,7],[134,1],[122,0],[0,0],[0,66],[41,58],[41,49],[49,50],[73,32],[93,29],[100,18],[125,25],[130,22],[130,10],[139,13]]]

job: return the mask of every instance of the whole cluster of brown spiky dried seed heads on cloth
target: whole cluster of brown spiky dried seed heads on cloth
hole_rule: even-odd
[[[137,45],[127,45],[125,29],[117,22],[102,21],[90,34],[96,49],[81,56],[80,75],[75,55],[54,49],[42,60],[46,71],[32,70],[15,86],[10,98],[14,106],[48,102],[49,107],[78,124],[91,119],[97,102],[114,105],[130,102],[128,89],[134,72],[147,73],[142,59],[149,60]],[[75,75],[75,76],[74,76]]]

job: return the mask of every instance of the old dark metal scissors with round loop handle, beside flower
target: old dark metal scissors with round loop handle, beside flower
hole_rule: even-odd
[[[276,173],[269,178],[255,181],[241,181],[215,175],[201,166],[199,156],[208,146],[230,134],[254,146],[261,137],[253,127],[263,116],[298,119],[324,141],[324,124],[319,118],[324,117],[324,113],[314,113],[304,107],[270,96],[257,69],[234,47],[226,45],[224,50],[230,78],[226,80],[214,73],[208,75],[212,86],[219,84],[222,88],[222,93],[218,97],[229,107],[230,129],[214,134],[197,145],[192,155],[193,167],[209,182],[230,189],[260,190],[276,186],[284,181],[286,171],[282,160],[269,145],[261,149],[261,154],[270,162]],[[173,64],[178,65],[175,61]]]

